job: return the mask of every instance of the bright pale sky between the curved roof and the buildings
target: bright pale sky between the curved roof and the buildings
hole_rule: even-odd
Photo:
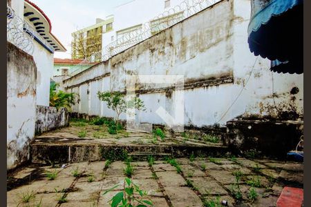
[[[113,9],[131,0],[30,0],[44,11],[52,23],[52,33],[67,52],[55,52],[54,57],[70,58],[71,33],[105,19]]]

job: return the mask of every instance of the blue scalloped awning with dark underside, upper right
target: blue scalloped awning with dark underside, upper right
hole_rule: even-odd
[[[249,50],[274,72],[303,73],[303,0],[252,0]]]

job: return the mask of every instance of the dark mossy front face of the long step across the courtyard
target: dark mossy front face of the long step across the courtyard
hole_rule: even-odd
[[[57,140],[57,139],[56,139]],[[35,164],[64,164],[68,162],[98,161],[104,159],[122,160],[131,155],[134,160],[154,157],[189,157],[206,155],[217,157],[228,152],[220,144],[101,144],[88,142],[39,143],[30,145],[30,158]]]

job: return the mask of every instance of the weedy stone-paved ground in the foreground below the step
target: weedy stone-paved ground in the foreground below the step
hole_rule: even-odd
[[[165,161],[155,161],[152,166],[147,161],[131,162],[134,168],[131,180],[147,191],[154,206],[203,206],[203,202],[209,206],[216,199],[228,201],[229,206],[275,206],[283,186],[303,187],[303,164],[299,163],[244,158],[192,161],[179,158],[176,161],[182,170],[180,173]],[[126,165],[115,161],[109,168],[104,166],[105,161],[97,161],[69,164],[65,168],[21,168],[8,177],[8,183],[15,184],[7,193],[8,206],[110,206],[109,200],[123,188]],[[73,177],[77,168],[82,176]],[[54,170],[57,177],[48,180],[45,172]],[[242,172],[241,201],[234,198],[236,172]],[[93,181],[88,181],[88,175],[93,175]],[[248,197],[252,181],[258,194],[254,201]],[[103,195],[116,184],[120,186]],[[22,199],[31,192],[35,196],[23,203]],[[61,203],[61,197],[66,202]]]

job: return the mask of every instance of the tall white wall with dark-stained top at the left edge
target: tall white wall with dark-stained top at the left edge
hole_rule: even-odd
[[[7,43],[7,169],[29,158],[35,135],[37,67],[32,56]]]

